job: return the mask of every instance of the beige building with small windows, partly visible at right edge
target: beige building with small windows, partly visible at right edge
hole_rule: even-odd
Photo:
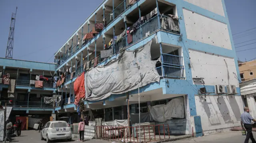
[[[256,60],[248,62],[238,61],[238,67],[242,82],[256,79]]]

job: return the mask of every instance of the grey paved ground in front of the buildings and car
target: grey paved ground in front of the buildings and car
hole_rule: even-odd
[[[77,136],[78,137],[78,136]],[[256,137],[256,132],[254,132],[254,137]],[[13,142],[17,143],[46,143],[46,141],[40,140],[40,133],[34,130],[30,131],[22,131],[21,137],[14,137]],[[78,138],[76,140],[72,140],[72,143],[78,142]],[[171,141],[168,143],[243,143],[245,136],[242,136],[240,131],[228,131],[223,133],[215,133],[211,135],[206,135],[203,137],[197,138],[188,138],[178,141]],[[111,143],[112,141],[105,141],[105,140],[97,140],[92,139],[89,141],[85,141],[85,143]],[[54,141],[53,143],[68,143],[66,140],[62,141]],[[251,143],[251,141],[249,141]]]

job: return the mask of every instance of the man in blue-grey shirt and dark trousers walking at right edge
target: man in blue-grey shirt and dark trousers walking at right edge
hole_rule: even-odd
[[[252,118],[252,116],[249,114],[249,112],[250,112],[249,108],[244,107],[244,113],[241,114],[242,129],[244,130],[244,128],[245,128],[247,131],[247,135],[244,140],[244,143],[248,143],[249,139],[252,140],[252,143],[256,143],[256,141],[252,135],[252,122],[251,122],[251,121],[256,122],[256,120]],[[243,123],[244,123],[244,126],[243,126]]]

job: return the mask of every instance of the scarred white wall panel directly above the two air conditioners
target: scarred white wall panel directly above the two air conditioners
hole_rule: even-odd
[[[234,58],[192,49],[189,49],[189,55],[192,78],[204,78],[205,85],[220,84],[226,86],[231,84],[239,87],[237,75],[234,74],[236,73]]]

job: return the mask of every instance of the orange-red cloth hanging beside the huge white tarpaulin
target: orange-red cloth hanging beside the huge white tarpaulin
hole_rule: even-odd
[[[85,88],[84,88],[84,72],[78,76],[74,82],[74,93],[75,93],[75,105],[78,105],[80,98],[85,97]]]

